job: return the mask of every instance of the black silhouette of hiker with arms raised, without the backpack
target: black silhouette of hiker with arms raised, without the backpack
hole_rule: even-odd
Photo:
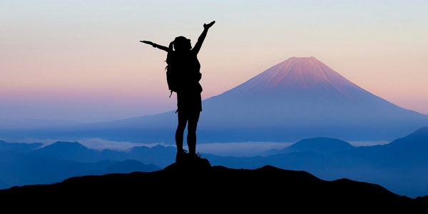
[[[203,24],[203,32],[200,34],[193,49],[190,39],[184,36],[176,37],[168,47],[154,44],[151,41],[141,41],[154,48],[167,51],[168,56],[166,61],[168,67],[174,66],[175,71],[178,71],[179,86],[176,90],[178,126],[175,131],[175,143],[177,144],[176,162],[184,161],[186,157],[190,159],[199,158],[196,154],[196,127],[198,126],[200,111],[202,111],[202,102],[200,98],[202,86],[200,86],[199,83],[201,74],[197,55],[205,36],[207,36],[208,29],[210,29],[214,23],[215,21],[212,21],[210,24]],[[188,154],[183,150],[183,136],[186,125],[188,126]]]

